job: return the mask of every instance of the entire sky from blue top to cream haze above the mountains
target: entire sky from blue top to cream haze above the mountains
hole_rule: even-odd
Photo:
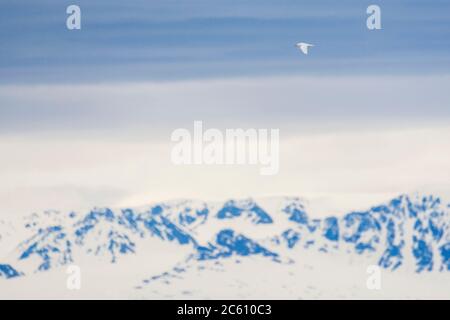
[[[81,30],[66,7],[81,8]],[[369,31],[366,8],[381,8]],[[448,1],[0,4],[0,217],[450,186]],[[308,56],[295,43],[315,44]],[[280,129],[280,173],[175,167],[170,135]],[[375,203],[373,203],[375,204]]]

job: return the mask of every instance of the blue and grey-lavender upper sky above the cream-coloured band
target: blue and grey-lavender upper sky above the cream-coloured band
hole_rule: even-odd
[[[373,3],[382,30],[366,27]],[[0,132],[448,122],[449,13],[446,0],[3,0]]]

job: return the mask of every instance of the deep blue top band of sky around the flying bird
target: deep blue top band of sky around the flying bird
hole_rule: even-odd
[[[380,31],[366,8],[382,9]],[[65,9],[82,10],[82,30]],[[450,2],[24,1],[0,10],[2,83],[450,70]],[[300,56],[294,44],[316,44]]]

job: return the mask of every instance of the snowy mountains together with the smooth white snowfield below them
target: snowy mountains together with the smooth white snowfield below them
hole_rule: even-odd
[[[448,203],[311,211],[300,198],[183,200],[2,221],[0,298],[450,299]]]

